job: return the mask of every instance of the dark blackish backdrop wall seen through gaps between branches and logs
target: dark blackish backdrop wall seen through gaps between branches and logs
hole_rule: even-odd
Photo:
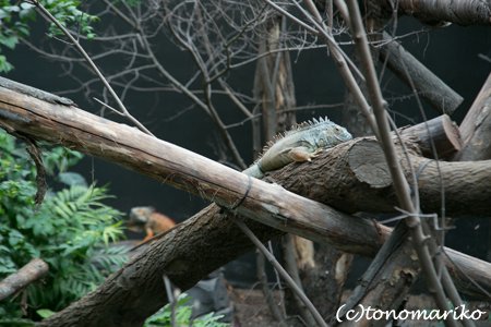
[[[398,23],[397,35],[412,31],[420,31],[422,26],[408,17]],[[96,26],[97,28],[97,26]],[[40,41],[45,47],[63,46],[57,40],[48,39],[45,24],[37,23],[33,28],[32,41]],[[100,45],[96,43],[82,43],[88,49],[97,53]],[[453,119],[460,123],[472,100],[479,93],[488,77],[491,63],[478,57],[479,53],[491,57],[491,29],[487,27],[450,27],[436,29],[431,33],[408,36],[403,40],[405,48],[427,65],[433,73],[440,76],[454,90],[460,94],[465,100],[457,109]],[[100,49],[100,48],[99,48]],[[179,80],[185,81],[191,76],[195,66],[187,52],[177,49],[171,43],[164,41],[157,47],[160,56],[165,56],[165,65]],[[349,52],[349,49],[347,50]],[[21,82],[40,89],[61,94],[73,99],[82,109],[97,113],[100,106],[84,95],[84,89],[67,94],[68,89],[79,85],[61,69],[59,62],[47,60],[25,46],[19,46],[15,51],[3,51],[8,60],[15,65],[15,70],[5,75],[16,82]],[[325,49],[292,52],[292,69],[297,105],[309,104],[338,104],[344,100],[344,82],[331,58],[326,57]],[[118,62],[110,59],[96,62],[106,72],[120,69]],[[236,89],[251,95],[253,73],[255,64],[233,72],[227,82]],[[76,71],[82,81],[93,78],[94,75],[86,71]],[[144,83],[143,83],[144,84]],[[422,120],[416,101],[410,97],[410,90],[404,86],[391,73],[384,75],[382,81],[384,96],[391,105],[391,110],[396,123],[402,126],[408,123],[417,123]],[[94,84],[97,93],[92,96],[100,97],[100,83]],[[121,89],[116,87],[120,94]],[[233,108],[225,97],[215,96],[215,106],[226,124],[244,119],[244,114]],[[124,99],[125,105],[142,123],[144,123],[157,137],[190,149],[205,157],[217,160],[219,158],[217,140],[218,133],[207,116],[182,95],[176,93],[137,93],[129,92]],[[428,119],[438,113],[423,104]],[[252,106],[248,105],[249,108]],[[185,109],[183,111],[183,109]],[[178,113],[178,117],[176,117]],[[120,121],[113,114],[105,114],[109,119]],[[297,114],[297,120],[312,117],[327,116],[335,122],[340,122],[340,108],[303,110]],[[127,123],[124,121],[120,121]],[[247,162],[252,161],[251,126],[244,123],[233,128],[230,133],[241,155]],[[230,158],[229,158],[230,159]],[[88,182],[94,179],[98,185],[110,183],[110,192],[116,198],[107,203],[117,209],[129,213],[135,206],[152,205],[158,211],[170,216],[177,222],[183,221],[208,205],[208,202],[190,195],[183,191],[175,190],[163,181],[152,180],[132,171],[125,170],[113,164],[108,164],[97,158],[85,157],[81,164],[72,169],[83,174]],[[446,245],[460,252],[486,259],[489,247],[489,219],[463,218],[457,221],[457,229],[448,233]],[[128,233],[130,238],[143,239],[142,234]],[[219,250],[216,250],[219,251]],[[369,261],[357,259],[354,271],[350,275],[352,282],[363,272]],[[240,261],[227,266],[227,278],[235,284],[249,286],[255,281],[255,264],[253,254],[248,254]]]

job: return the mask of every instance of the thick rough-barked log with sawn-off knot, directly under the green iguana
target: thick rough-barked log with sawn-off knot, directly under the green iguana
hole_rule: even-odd
[[[409,159],[418,177],[420,204],[423,213],[440,213],[441,180],[445,185],[446,215],[453,218],[489,217],[491,211],[491,160],[484,161],[429,161],[421,157],[411,143]],[[410,167],[400,161],[412,183]],[[397,196],[385,157],[373,137],[357,138],[322,154],[308,165],[291,164],[282,170],[268,172],[266,180],[282,183],[287,190],[304,197],[315,198],[344,213],[396,213]],[[412,186],[414,189],[414,186]],[[319,190],[324,190],[323,194]]]

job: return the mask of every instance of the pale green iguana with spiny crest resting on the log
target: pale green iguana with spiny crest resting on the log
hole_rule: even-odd
[[[279,134],[268,142],[263,154],[251,167],[242,171],[254,178],[262,178],[266,171],[279,169],[292,161],[304,162],[316,158],[323,149],[334,147],[352,138],[351,134],[327,119],[314,118],[291,131]]]

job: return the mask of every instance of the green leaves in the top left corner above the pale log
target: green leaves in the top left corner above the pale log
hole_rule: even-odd
[[[80,33],[85,35],[89,40],[96,37],[94,27],[89,24],[99,19],[81,11],[79,9],[82,3],[81,1],[47,0],[39,2],[62,26],[74,26],[76,31],[80,27]],[[36,11],[33,4],[0,0],[0,52],[2,47],[14,50],[19,38],[28,37],[31,32],[29,23],[32,22],[36,22]],[[51,36],[62,34],[53,23],[50,24],[49,32]],[[11,70],[13,70],[13,65],[7,61],[5,56],[0,56],[0,73],[8,73]]]

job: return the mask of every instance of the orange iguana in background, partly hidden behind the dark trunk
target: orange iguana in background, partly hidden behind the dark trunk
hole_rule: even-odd
[[[154,207],[134,207],[130,211],[128,229],[134,232],[146,231],[142,242],[176,226],[172,219],[155,211]]]

